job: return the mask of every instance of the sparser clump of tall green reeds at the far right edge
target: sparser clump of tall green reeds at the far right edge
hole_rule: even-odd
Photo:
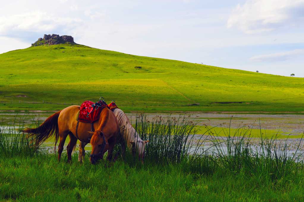
[[[225,139],[211,135],[210,140],[219,168],[233,173],[244,172],[259,183],[284,184],[303,171],[300,158],[303,153],[298,152],[302,138],[293,153],[288,151],[287,139],[278,140],[276,135],[267,139],[261,132],[261,137],[253,140],[250,127],[240,127],[233,134],[229,131]]]

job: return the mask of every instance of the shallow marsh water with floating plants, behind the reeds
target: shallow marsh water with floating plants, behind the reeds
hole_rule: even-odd
[[[11,130],[12,127],[19,128],[20,126],[36,125],[45,120],[51,113],[3,113],[2,114],[2,126],[0,128],[2,133],[6,133]],[[126,113],[132,123],[136,122],[136,113]],[[152,121],[156,116],[176,118],[186,116],[189,120],[194,121],[198,126],[221,126],[223,128],[230,127],[232,129],[237,129],[243,126],[250,126],[252,129],[268,130],[274,135],[278,132],[280,134],[288,135],[280,138],[277,141],[277,145],[286,144],[287,154],[289,156],[299,157],[299,160],[304,159],[304,144],[301,138],[293,138],[296,136],[301,136],[304,131],[304,115],[293,115],[293,114],[281,114],[281,115],[271,115],[271,114],[223,114],[223,113],[181,113],[181,114],[146,114],[147,120]],[[34,123],[34,124],[33,124]],[[193,139],[192,139],[193,138]],[[190,137],[191,147],[189,153],[193,153],[197,150],[197,153],[208,152],[209,154],[215,154],[218,148],[214,146],[214,140],[220,143],[220,152],[226,153],[228,148],[225,144],[225,136],[212,136],[210,133],[205,133],[204,135],[198,133]],[[260,138],[253,137],[250,139],[250,148],[253,151],[260,150]],[[66,145],[68,140],[66,140]],[[50,151],[53,149],[53,141],[49,140],[45,144],[49,147]],[[197,146],[199,145],[199,146]],[[86,150],[91,150],[91,146],[88,144]],[[282,148],[272,148],[274,150],[282,150]]]

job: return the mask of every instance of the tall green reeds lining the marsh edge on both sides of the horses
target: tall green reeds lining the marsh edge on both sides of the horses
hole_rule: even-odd
[[[39,125],[38,122],[33,122]],[[195,127],[189,117],[156,116],[151,121],[147,116],[136,116],[135,129],[146,145],[145,163],[152,165],[179,165],[185,172],[212,175],[214,173],[244,173],[257,183],[284,185],[303,172],[302,154],[299,145],[293,153],[288,151],[287,140],[279,141],[250,137],[249,127],[239,127],[226,137],[217,136],[212,128],[200,137],[195,136]],[[0,154],[5,157],[33,157],[42,150],[21,131],[25,124],[15,118],[12,123],[0,123]],[[209,143],[208,143],[209,142]],[[210,143],[211,142],[211,143]],[[209,147],[202,147],[204,144]],[[119,150],[116,146],[116,152]],[[128,152],[127,152],[128,153]],[[127,156],[129,165],[141,166],[138,158]]]

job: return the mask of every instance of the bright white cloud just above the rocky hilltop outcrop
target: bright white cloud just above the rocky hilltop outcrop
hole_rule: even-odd
[[[24,14],[0,17],[0,36],[22,39],[33,35],[65,32],[81,25],[82,20],[58,17],[47,12],[27,12]]]

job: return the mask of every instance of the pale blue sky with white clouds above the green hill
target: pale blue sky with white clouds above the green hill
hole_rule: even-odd
[[[304,77],[304,0],[0,2],[0,53],[59,34],[98,49]]]

